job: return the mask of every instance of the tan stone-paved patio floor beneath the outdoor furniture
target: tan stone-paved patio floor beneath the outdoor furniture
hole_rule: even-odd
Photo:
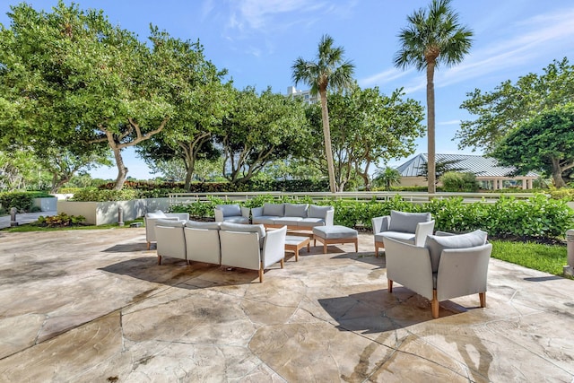
[[[0,231],[0,381],[574,382],[574,281],[495,259],[478,295],[396,286],[372,236],[257,272],[146,251],[144,229]]]

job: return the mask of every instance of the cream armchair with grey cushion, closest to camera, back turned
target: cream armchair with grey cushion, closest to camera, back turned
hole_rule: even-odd
[[[427,237],[423,246],[385,238],[388,292],[393,283],[431,300],[432,318],[439,302],[474,293],[486,307],[486,283],[492,245],[485,231]]]

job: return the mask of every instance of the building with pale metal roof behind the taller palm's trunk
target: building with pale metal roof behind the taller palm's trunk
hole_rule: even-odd
[[[428,161],[428,154],[422,153],[399,165],[396,170],[401,173],[401,185],[403,186],[426,186],[427,180],[421,173]],[[511,177],[515,170],[513,167],[500,166],[493,158],[482,155],[469,154],[436,154],[436,162],[450,162],[453,169],[460,172],[471,172],[484,189],[500,189],[504,187],[522,187],[531,189],[533,181],[539,177],[530,171],[526,176]]]

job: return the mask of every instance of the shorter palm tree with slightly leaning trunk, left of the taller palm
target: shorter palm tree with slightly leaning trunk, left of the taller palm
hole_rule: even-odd
[[[343,90],[354,84],[352,74],[354,65],[344,60],[344,48],[333,47],[333,38],[323,35],[319,42],[316,61],[306,61],[302,57],[295,60],[291,66],[292,78],[297,83],[307,83],[313,95],[319,94],[321,99],[321,119],[323,121],[323,137],[325,140],[326,166],[329,173],[329,187],[335,193],[335,164],[333,162],[333,149],[331,148],[331,129],[329,127],[329,109],[326,105],[327,87]]]

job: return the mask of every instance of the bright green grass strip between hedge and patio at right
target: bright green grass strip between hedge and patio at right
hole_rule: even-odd
[[[492,240],[491,243],[491,257],[544,273],[562,275],[562,267],[567,264],[565,246],[506,240]]]

